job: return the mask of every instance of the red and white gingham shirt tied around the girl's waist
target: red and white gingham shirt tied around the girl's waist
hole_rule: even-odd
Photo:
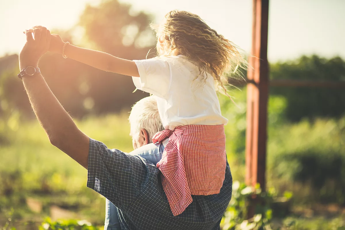
[[[218,194],[226,168],[224,125],[186,125],[155,134],[153,143],[169,141],[157,163],[162,187],[174,216],[193,201],[191,195]]]

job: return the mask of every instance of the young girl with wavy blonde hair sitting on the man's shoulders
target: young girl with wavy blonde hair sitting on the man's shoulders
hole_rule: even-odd
[[[191,195],[217,194],[223,185],[226,152],[216,89],[226,93],[223,73],[244,63],[236,47],[199,16],[170,11],[157,28],[159,56],[125,60],[72,46],[52,35],[50,51],[105,71],[132,76],[137,89],[157,96],[164,131],[152,141],[169,141],[157,167],[174,216]],[[235,68],[234,68],[235,67]]]

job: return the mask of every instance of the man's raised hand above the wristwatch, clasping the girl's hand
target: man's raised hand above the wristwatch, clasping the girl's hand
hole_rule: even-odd
[[[51,40],[50,31],[42,26],[25,30],[24,33],[26,34],[26,43],[19,53],[20,70],[28,66],[36,67],[39,59],[48,51]]]

